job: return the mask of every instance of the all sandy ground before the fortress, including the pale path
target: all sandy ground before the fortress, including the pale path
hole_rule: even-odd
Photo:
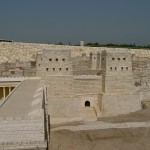
[[[107,125],[130,123],[133,126],[126,128],[108,126],[104,129],[96,122],[95,127],[94,123],[69,125],[70,129],[69,126],[68,129],[64,126],[55,127],[51,129],[50,150],[150,150],[150,109],[102,118],[100,122]],[[93,128],[85,128],[85,126],[93,126]],[[73,128],[76,130],[71,130]]]

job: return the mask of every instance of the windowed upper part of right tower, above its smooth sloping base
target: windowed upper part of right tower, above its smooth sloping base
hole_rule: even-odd
[[[107,53],[105,93],[134,93],[132,59],[130,53]]]

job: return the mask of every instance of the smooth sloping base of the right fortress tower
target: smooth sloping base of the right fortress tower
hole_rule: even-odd
[[[118,94],[106,95],[102,97],[102,116],[117,116],[141,109],[139,94]]]

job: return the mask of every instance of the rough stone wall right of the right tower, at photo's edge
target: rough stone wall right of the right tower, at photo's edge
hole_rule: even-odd
[[[150,58],[134,56],[132,67],[135,86],[140,93],[143,107],[150,107]]]

